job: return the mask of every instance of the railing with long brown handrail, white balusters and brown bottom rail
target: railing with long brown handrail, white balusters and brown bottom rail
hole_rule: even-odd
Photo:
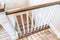
[[[40,30],[49,28],[48,23],[51,16],[53,15],[52,12],[54,12],[56,8],[55,6],[59,4],[60,1],[57,1],[35,6],[28,6],[24,8],[7,10],[5,12],[6,15],[16,15],[16,30],[18,31],[18,36],[20,38],[23,38],[36,32],[39,32]],[[50,9],[48,6],[52,8]],[[42,13],[43,11],[46,11],[45,9],[49,9],[49,12]]]

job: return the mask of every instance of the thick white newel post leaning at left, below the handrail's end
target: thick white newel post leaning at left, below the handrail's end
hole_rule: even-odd
[[[6,32],[13,39],[13,36],[16,35],[16,31],[12,27],[12,24],[10,23],[8,17],[5,15],[4,12],[3,13],[0,13],[0,24],[3,26],[3,28],[6,30]]]

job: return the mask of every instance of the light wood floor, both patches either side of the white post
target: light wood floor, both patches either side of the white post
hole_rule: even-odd
[[[11,40],[6,31],[0,27],[0,40]],[[50,29],[38,32],[19,40],[58,40],[56,35]]]

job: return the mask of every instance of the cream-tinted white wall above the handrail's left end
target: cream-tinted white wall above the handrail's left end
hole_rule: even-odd
[[[14,9],[26,6],[25,0],[4,0],[6,9]]]

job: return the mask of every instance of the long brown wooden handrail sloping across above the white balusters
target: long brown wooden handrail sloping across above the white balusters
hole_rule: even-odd
[[[50,2],[50,3],[46,3],[46,4],[40,4],[40,5],[34,5],[34,6],[27,6],[27,7],[23,7],[23,8],[12,9],[12,10],[7,10],[6,14],[7,15],[15,14],[18,12],[33,10],[33,9],[37,9],[37,8],[47,7],[47,6],[52,6],[52,5],[56,5],[56,4],[60,4],[60,1]]]

